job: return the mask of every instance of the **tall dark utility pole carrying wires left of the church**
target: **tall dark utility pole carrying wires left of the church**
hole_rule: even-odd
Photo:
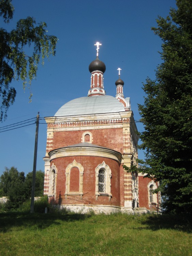
[[[38,112],[38,115],[36,116],[35,149],[34,149],[34,160],[33,160],[33,181],[32,181],[32,189],[31,189],[31,209],[30,209],[30,213],[34,212],[35,175],[36,175],[36,163],[37,163],[38,132],[39,132],[39,112]]]

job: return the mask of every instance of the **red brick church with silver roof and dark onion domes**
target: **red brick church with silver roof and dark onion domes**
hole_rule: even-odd
[[[157,182],[122,167],[136,165],[139,138],[130,98],[123,94],[120,68],[114,81],[116,96],[106,95],[106,67],[98,57],[100,45],[95,44],[96,59],[89,65],[88,95],[45,117],[44,194],[49,201],[74,212],[154,211],[151,206],[159,207],[160,202],[160,196],[152,193]]]

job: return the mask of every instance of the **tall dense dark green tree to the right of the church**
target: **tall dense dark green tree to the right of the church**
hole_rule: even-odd
[[[145,131],[143,171],[160,181],[168,212],[192,210],[192,1],[176,0],[166,18],[152,28],[162,43],[156,80],[143,86],[144,105],[139,112]]]

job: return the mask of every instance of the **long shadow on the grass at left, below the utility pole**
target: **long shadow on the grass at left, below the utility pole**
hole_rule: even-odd
[[[10,231],[14,227],[28,227],[45,229],[50,225],[60,225],[60,221],[73,222],[83,221],[89,218],[90,214],[78,213],[23,213],[23,212],[6,212],[0,213],[0,232]]]

